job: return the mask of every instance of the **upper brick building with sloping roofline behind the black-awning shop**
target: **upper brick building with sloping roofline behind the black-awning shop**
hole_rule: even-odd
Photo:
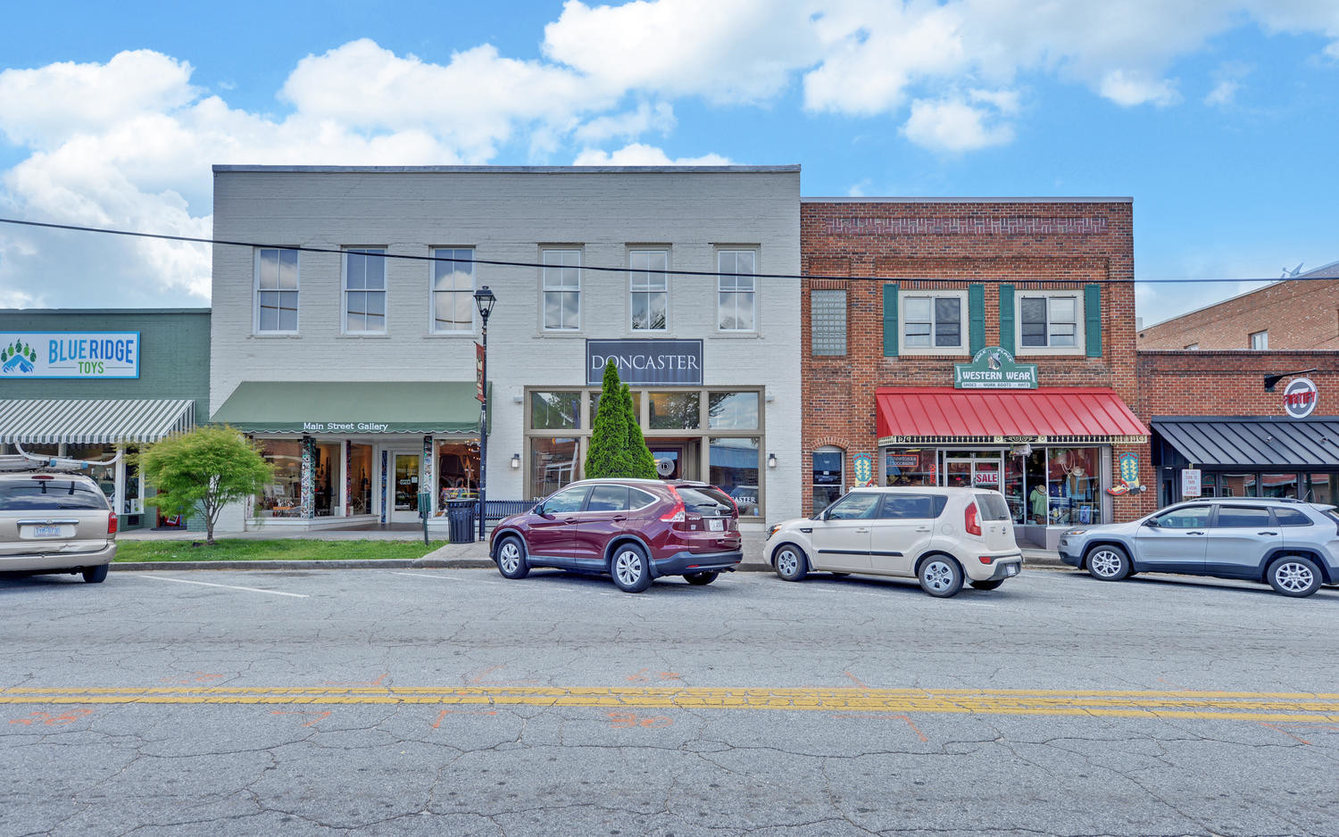
[[[1339,350],[1339,261],[1139,331],[1139,350]]]

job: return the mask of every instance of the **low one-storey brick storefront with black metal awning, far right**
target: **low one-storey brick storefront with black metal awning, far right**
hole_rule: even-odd
[[[1160,505],[1339,501],[1339,351],[1141,351],[1137,372]],[[1272,391],[1267,376],[1279,376]]]

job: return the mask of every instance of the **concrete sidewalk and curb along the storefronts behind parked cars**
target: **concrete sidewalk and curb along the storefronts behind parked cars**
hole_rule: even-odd
[[[204,541],[200,532],[151,532],[150,537],[135,537],[139,533],[126,533],[122,540],[151,540],[165,536],[163,540],[190,540]],[[246,532],[228,534],[228,538],[309,538],[325,541],[352,541],[352,540],[398,540],[412,541],[423,537],[422,529],[414,530],[345,530],[345,532],[304,532],[304,533],[264,533]],[[771,565],[762,557],[762,548],[766,538],[761,532],[746,533],[743,536],[744,560],[739,565],[739,572],[771,572]],[[386,560],[386,561],[145,561],[112,564],[112,569],[474,569],[494,566],[489,558],[487,544],[475,541],[470,544],[445,544],[420,558]],[[1048,549],[1023,549],[1023,566],[1032,568],[1063,568],[1059,554]]]

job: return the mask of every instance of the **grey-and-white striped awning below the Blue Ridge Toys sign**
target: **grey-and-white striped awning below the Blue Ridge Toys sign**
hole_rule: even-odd
[[[157,442],[195,426],[195,402],[183,399],[29,398],[0,400],[0,442],[116,445]]]

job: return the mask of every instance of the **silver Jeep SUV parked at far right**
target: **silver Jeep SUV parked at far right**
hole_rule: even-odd
[[[1141,572],[1216,576],[1300,597],[1339,580],[1339,514],[1296,500],[1212,497],[1129,524],[1071,529],[1059,552],[1103,581]]]

